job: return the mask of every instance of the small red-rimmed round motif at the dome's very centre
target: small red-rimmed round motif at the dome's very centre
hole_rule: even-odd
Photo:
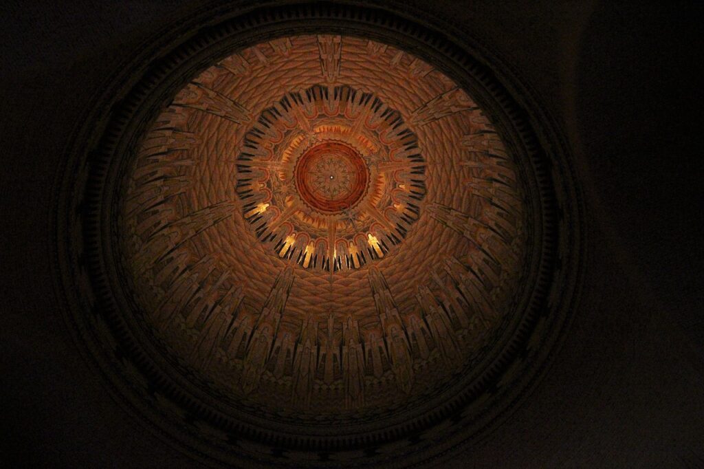
[[[312,146],[298,159],[294,173],[301,199],[325,213],[355,206],[369,182],[369,170],[360,154],[340,142]]]

